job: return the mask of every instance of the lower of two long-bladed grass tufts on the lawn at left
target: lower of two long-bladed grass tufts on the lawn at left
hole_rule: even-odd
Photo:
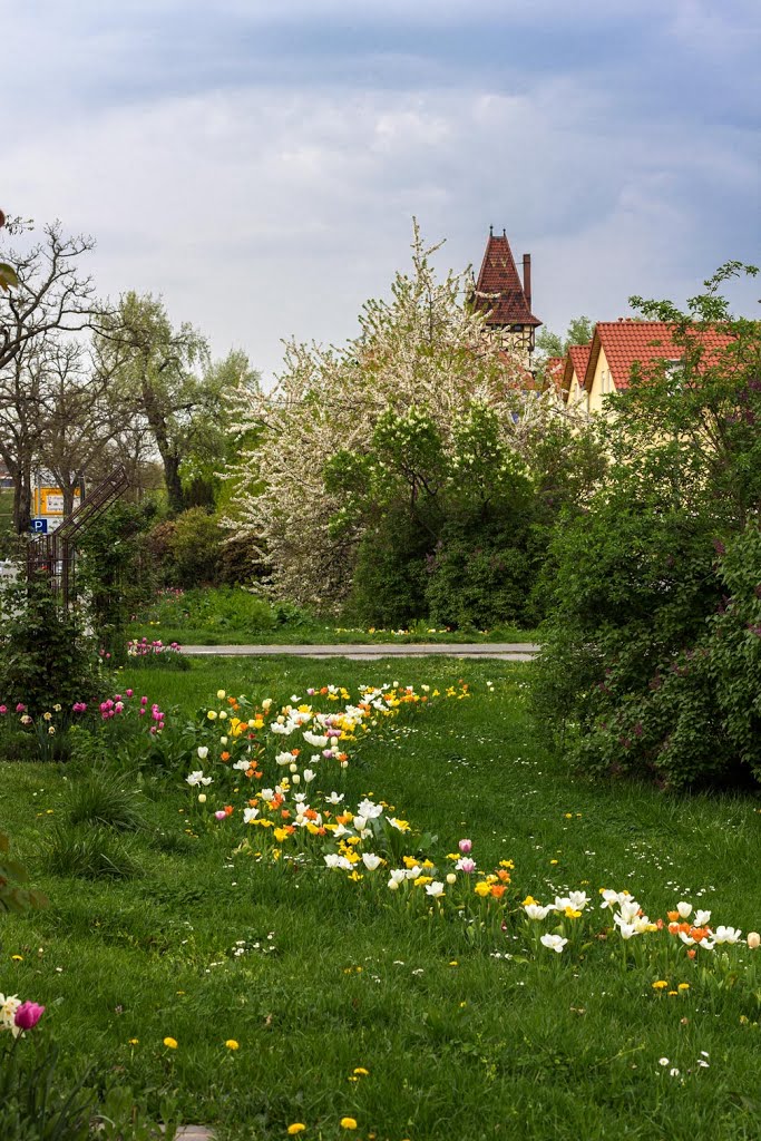
[[[138,849],[111,827],[57,824],[43,852],[48,872],[84,880],[131,880],[143,874]]]

